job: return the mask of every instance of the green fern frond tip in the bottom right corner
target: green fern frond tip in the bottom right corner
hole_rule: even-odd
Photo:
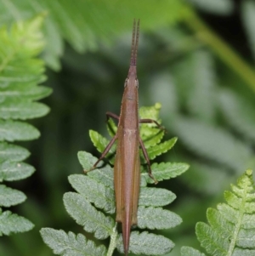
[[[225,191],[227,203],[218,204],[217,209],[207,209],[209,224],[199,222],[195,226],[201,247],[209,255],[254,255],[255,236],[255,190],[252,170],[246,170],[232,191]],[[183,248],[182,255],[203,255],[192,248]]]

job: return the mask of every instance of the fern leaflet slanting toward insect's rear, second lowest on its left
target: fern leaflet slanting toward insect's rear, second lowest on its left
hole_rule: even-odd
[[[64,204],[66,211],[77,224],[83,225],[88,232],[94,232],[96,238],[105,239],[111,235],[114,220],[97,211],[83,196],[67,192],[64,195]]]

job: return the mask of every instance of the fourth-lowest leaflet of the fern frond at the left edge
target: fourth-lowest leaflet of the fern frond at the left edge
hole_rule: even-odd
[[[30,156],[30,152],[20,145],[10,145],[6,142],[0,142],[0,161],[8,161],[11,159],[12,161],[23,161],[28,156]]]

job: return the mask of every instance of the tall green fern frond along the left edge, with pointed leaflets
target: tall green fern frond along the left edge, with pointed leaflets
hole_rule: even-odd
[[[29,151],[9,142],[37,139],[37,128],[26,122],[45,116],[47,105],[34,102],[51,93],[51,89],[38,86],[45,77],[43,62],[36,59],[42,51],[43,15],[13,26],[0,28],[0,181],[26,179],[35,169],[25,162]],[[31,230],[33,224],[23,217],[2,208],[26,200],[21,191],[0,185],[0,236]]]

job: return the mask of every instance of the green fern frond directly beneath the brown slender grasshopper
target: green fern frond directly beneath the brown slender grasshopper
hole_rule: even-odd
[[[147,108],[147,118],[157,117],[159,110],[160,108],[156,108],[155,106]],[[156,116],[153,115],[153,113],[156,113]],[[147,138],[153,138],[153,135],[157,134],[156,128],[150,128],[150,124],[143,124],[143,126],[147,126],[148,128],[146,132]],[[144,131],[145,130],[146,128],[144,128]],[[93,131],[90,131],[89,134],[94,145],[102,151],[106,139]],[[146,138],[145,134],[144,137]],[[172,146],[173,143],[171,147]],[[153,145],[153,148],[161,154],[162,152],[168,151],[170,147],[158,141],[157,145]],[[78,159],[82,168],[85,170],[91,168],[97,160],[94,156],[85,151],[78,153]],[[184,163],[162,162],[161,164],[154,163],[151,168],[152,174],[155,175],[156,179],[162,180],[174,178],[184,173],[189,166]],[[167,191],[166,189],[146,187],[147,181],[151,182],[151,179],[149,175],[144,172],[142,174],[139,194],[139,229],[161,230],[170,229],[179,225],[182,219],[176,213],[162,208],[173,202],[176,196],[173,192]],[[115,213],[116,209],[113,188],[113,170],[111,166],[99,163],[99,167],[88,172],[86,176],[82,174],[71,175],[69,182],[76,192],[65,193],[64,204],[66,211],[76,220],[78,225],[83,226],[84,230],[89,233],[94,233],[95,238],[102,240],[108,236],[111,237],[111,246],[109,247],[107,255],[111,255],[115,247],[120,252],[123,252],[122,235],[117,234],[115,220],[112,218],[112,213]],[[99,209],[102,211],[99,211]],[[55,234],[55,236],[53,234]],[[62,230],[42,229],[41,235],[44,242],[54,250],[54,253],[59,255],[73,255],[73,240],[75,236],[73,236],[72,233],[67,235]],[[68,237],[71,238],[68,239]],[[84,238],[83,236],[81,237],[84,243]],[[65,245],[62,245],[61,242],[59,247],[59,242],[57,241],[60,239],[65,240]],[[94,245],[94,243],[90,244]],[[161,255],[170,252],[173,246],[173,242],[164,236],[148,232],[139,233],[138,231],[133,231],[130,236],[129,251],[136,254]],[[81,248],[82,244],[77,247]],[[96,251],[101,250],[101,247],[91,247],[91,250],[93,255],[98,255]],[[82,251],[79,252],[79,255],[87,255],[86,247],[82,247]],[[105,252],[101,255],[105,255]]]

